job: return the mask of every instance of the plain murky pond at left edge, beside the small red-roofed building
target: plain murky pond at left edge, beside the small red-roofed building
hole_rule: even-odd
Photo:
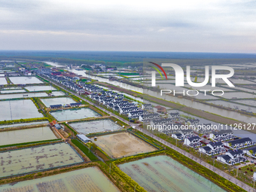
[[[49,126],[0,132],[0,146],[57,139]]]

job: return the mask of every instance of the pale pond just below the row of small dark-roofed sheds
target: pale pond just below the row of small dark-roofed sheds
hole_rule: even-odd
[[[50,114],[53,115],[56,120],[75,120],[89,117],[102,117],[102,115],[98,114],[96,111],[93,111],[90,108],[51,111]]]

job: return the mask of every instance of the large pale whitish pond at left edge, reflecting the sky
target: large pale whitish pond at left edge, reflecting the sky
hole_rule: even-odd
[[[5,108],[0,110],[0,121],[44,117],[30,99],[2,101],[0,106]]]

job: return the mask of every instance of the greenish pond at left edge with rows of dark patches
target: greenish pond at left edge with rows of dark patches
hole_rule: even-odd
[[[0,178],[81,163],[84,160],[66,143],[0,153]]]

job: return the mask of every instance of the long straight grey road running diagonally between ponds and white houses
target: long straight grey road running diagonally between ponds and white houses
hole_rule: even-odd
[[[55,84],[55,83],[52,82],[52,84]],[[62,86],[60,86],[59,84],[56,84],[56,86],[62,87]],[[67,90],[65,87],[62,87],[62,89],[68,91],[69,93],[72,93],[71,91]],[[84,101],[90,103],[90,105],[95,105],[97,108],[100,108],[102,111],[105,111],[106,113],[111,114],[113,117],[116,117],[117,119],[123,121],[124,123],[130,124],[131,126],[135,126],[135,127],[136,127],[136,130],[139,130],[139,131],[141,131],[142,133],[145,133],[147,136],[150,136],[150,137],[152,137],[153,139],[156,139],[158,142],[162,143],[163,145],[166,145],[166,146],[168,146],[169,148],[172,148],[172,149],[174,149],[175,151],[178,151],[179,153],[183,154],[184,156],[190,158],[191,160],[194,160],[194,161],[196,161],[197,163],[200,163],[202,166],[205,166],[206,168],[208,168],[208,169],[212,170],[213,172],[217,173],[218,175],[221,175],[222,177],[224,177],[224,178],[226,178],[227,180],[231,181],[233,184],[236,184],[236,185],[238,185],[239,187],[242,187],[244,190],[247,190],[247,191],[254,191],[254,189],[253,189],[252,187],[248,186],[248,184],[245,184],[245,183],[243,183],[242,181],[239,181],[238,179],[233,178],[232,176],[228,175],[226,172],[223,172],[223,171],[221,171],[220,169],[217,169],[215,166],[212,166],[212,165],[210,165],[209,163],[206,163],[206,162],[204,162],[203,160],[200,160],[199,158],[194,157],[194,155],[187,153],[187,151],[184,151],[184,150],[182,150],[182,149],[176,147],[175,145],[172,145],[172,144],[170,144],[169,142],[166,142],[165,140],[160,139],[159,137],[154,136],[154,135],[151,134],[151,133],[148,133],[148,131],[143,130],[143,129],[140,128],[137,124],[135,124],[135,123],[130,123],[129,121],[124,120],[123,118],[117,116],[116,114],[113,114],[113,113],[111,113],[110,111],[105,110],[105,108],[102,108],[101,106],[96,105],[95,103],[90,102],[90,101],[87,100],[87,99],[84,99],[83,97],[81,97],[81,96],[78,95],[77,93],[72,93],[72,94],[74,94],[75,96],[78,96],[80,99],[82,99],[82,100],[84,100]]]

